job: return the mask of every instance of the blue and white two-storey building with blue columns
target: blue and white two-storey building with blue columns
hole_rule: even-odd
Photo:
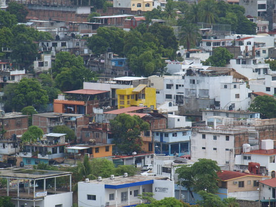
[[[166,156],[190,154],[191,129],[174,128],[153,131],[154,152]]]

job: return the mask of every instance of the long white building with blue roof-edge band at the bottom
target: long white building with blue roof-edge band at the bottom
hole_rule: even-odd
[[[135,175],[78,182],[78,205],[87,206],[131,206],[145,201],[139,198],[144,192],[153,193],[153,198],[174,197],[174,181],[164,177]]]

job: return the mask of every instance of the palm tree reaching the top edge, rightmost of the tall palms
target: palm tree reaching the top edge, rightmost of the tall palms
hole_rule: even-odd
[[[199,3],[200,20],[213,24],[217,20],[214,0],[203,0]]]

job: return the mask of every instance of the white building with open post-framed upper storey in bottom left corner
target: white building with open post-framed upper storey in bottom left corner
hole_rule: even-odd
[[[71,172],[62,171],[5,169],[1,171],[0,178],[7,179],[7,187],[0,187],[0,196],[10,196],[16,207],[71,207],[71,176]],[[62,185],[57,179],[60,177],[64,177]],[[49,179],[54,181],[53,184],[49,184]]]

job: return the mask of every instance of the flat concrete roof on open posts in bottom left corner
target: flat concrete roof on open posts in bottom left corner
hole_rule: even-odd
[[[72,174],[72,172],[33,170],[25,168],[6,168],[0,170],[0,178],[32,179],[39,180],[43,178],[61,177]]]

